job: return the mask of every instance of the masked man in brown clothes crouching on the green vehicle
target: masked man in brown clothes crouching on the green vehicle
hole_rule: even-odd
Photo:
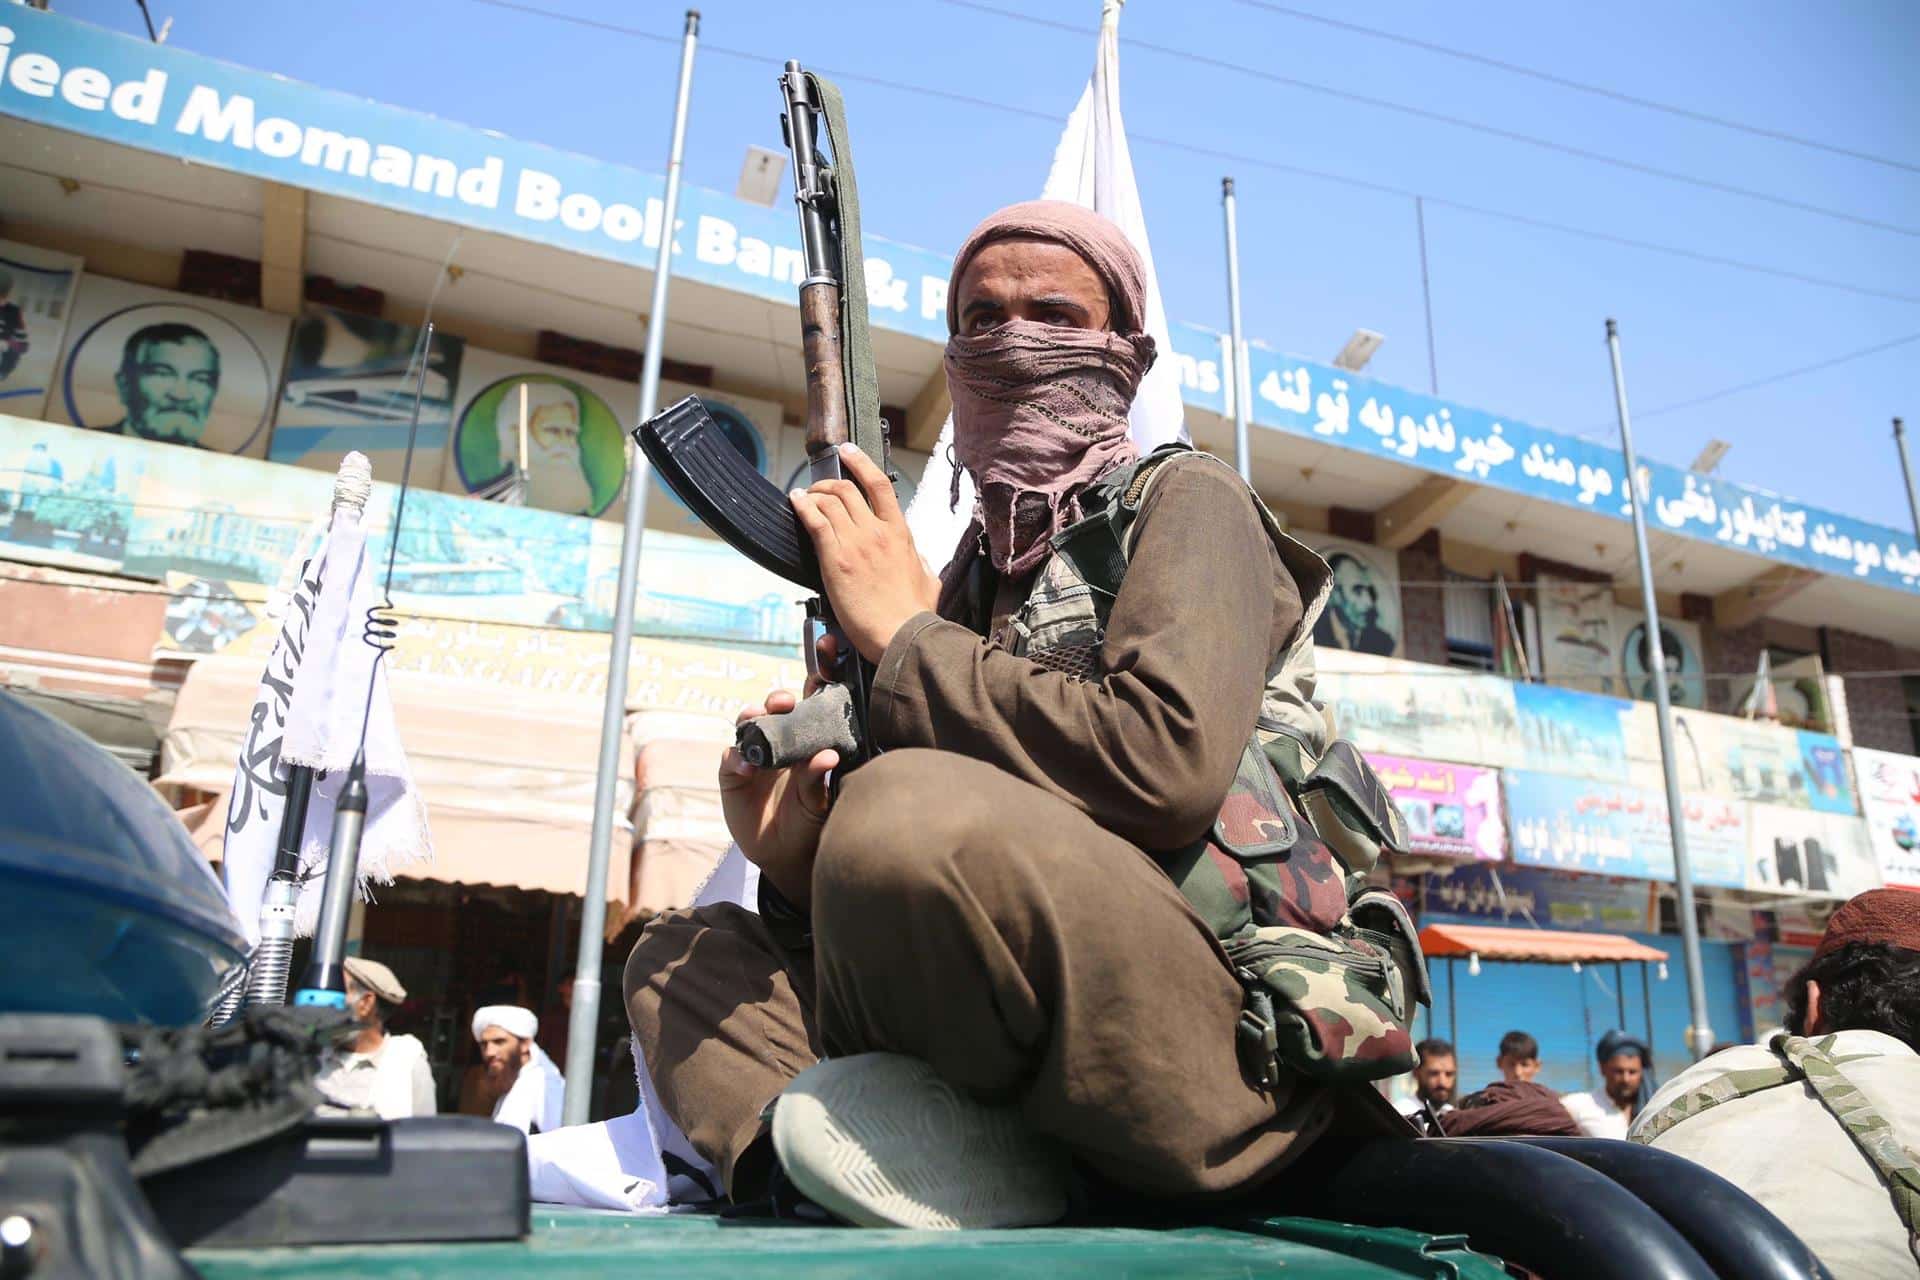
[[[655,919],[624,981],[662,1109],[735,1201],[772,1184],[860,1224],[1044,1222],[1068,1161],[1133,1194],[1223,1194],[1334,1119],[1304,1079],[1242,1075],[1242,988],[1142,852],[1212,829],[1325,566],[1288,568],[1233,470],[1175,455],[1104,637],[1021,656],[1050,539],[1137,457],[1144,313],[1114,223],[1058,201],[995,213],[947,303],[954,451],[979,493],[947,570],[927,574],[858,449],[851,478],[793,493],[876,664],[881,754],[829,806],[835,752],[756,770],[730,750],[726,821],[762,910]],[[778,691],[741,718],[793,704]]]

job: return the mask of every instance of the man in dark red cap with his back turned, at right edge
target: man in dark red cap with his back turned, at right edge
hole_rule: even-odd
[[[1834,912],[1788,981],[1786,1031],[1705,1057],[1632,1140],[1686,1155],[1793,1228],[1836,1276],[1920,1261],[1920,892]]]

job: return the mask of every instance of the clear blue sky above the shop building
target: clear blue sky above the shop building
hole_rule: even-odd
[[[783,58],[843,79],[866,226],[950,251],[995,205],[1039,192],[1092,65],[1096,0],[703,0],[687,177],[732,190],[749,142],[778,146]],[[664,40],[482,0],[150,0],[171,42],[292,79],[649,171],[664,167],[684,4],[528,0]],[[1546,84],[1235,0],[1133,0],[1121,73],[1167,313],[1225,328],[1219,178],[1240,186],[1246,328],[1329,359],[1356,326],[1388,336],[1371,372],[1427,386],[1413,201],[1196,154],[1348,175],[1436,200],[1651,240],[1920,299],[1920,6],[1786,0],[1292,8],[1521,63],[1693,111],[1901,161],[1889,167]],[[56,0],[142,31],[132,0]],[[1786,209],[1523,142],[1202,65],[1465,117],[1640,165],[1907,228]],[[733,50],[733,54],[724,52]],[[739,56],[751,54],[751,58]],[[852,75],[1041,113],[960,106]],[[1139,142],[1142,134],[1179,142]],[[1724,388],[1920,334],[1920,301],[1870,297],[1457,207],[1427,207],[1440,393],[1569,432],[1611,430],[1601,320],[1619,317],[1640,447],[1907,528],[1889,418],[1920,430],[1920,342],[1676,413]]]

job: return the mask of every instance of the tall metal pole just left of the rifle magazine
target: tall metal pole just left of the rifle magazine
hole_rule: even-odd
[[[693,88],[693,46],[699,10],[687,10],[680,46],[680,96],[674,100],[674,140],[666,154],[666,198],[660,207],[660,257],[653,267],[653,307],[647,311],[647,353],[639,374],[639,420],[659,409],[660,351],[666,340],[666,282],[674,253],[674,209],[680,203],[680,154],[687,140],[687,96]],[[612,848],[612,800],[620,791],[620,739],[626,735],[626,660],[634,645],[634,587],[639,578],[639,535],[647,528],[647,455],[626,441],[626,528],[620,537],[620,580],[607,651],[607,702],[601,708],[601,758],[593,779],[593,835],[588,844],[588,887],[580,902],[580,961],[574,965],[574,1007],[566,1021],[566,1125],[588,1123],[593,1098],[593,1034],[599,1027],[601,935],[607,929],[607,858]]]

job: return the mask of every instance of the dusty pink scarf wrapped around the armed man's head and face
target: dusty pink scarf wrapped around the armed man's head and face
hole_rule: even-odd
[[[1008,238],[1048,240],[1079,253],[1106,284],[1112,328],[1008,320],[985,334],[962,334],[960,278],[975,253]],[[1008,205],[960,246],[947,288],[947,386],[954,453],[979,497],[948,566],[948,587],[981,532],[1000,574],[1031,574],[1052,535],[1079,518],[1079,495],[1139,457],[1127,411],[1154,363],[1144,315],[1140,257],[1125,232],[1092,209],[1058,200]],[[954,495],[958,501],[958,476]]]

